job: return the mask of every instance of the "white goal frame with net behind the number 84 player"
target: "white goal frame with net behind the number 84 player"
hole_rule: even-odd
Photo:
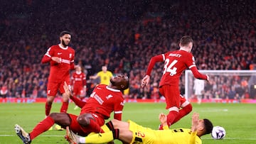
[[[186,99],[256,99],[256,70],[199,70],[210,81],[196,79],[185,71]]]

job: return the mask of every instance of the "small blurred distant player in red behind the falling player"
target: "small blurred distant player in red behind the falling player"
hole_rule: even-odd
[[[82,101],[86,94],[86,75],[82,72],[80,65],[75,67],[75,72],[71,76],[71,88],[73,96],[78,97]],[[78,108],[78,106],[75,106],[75,108]]]

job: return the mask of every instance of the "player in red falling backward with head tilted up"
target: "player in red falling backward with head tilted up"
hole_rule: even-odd
[[[86,136],[91,132],[100,133],[104,130],[100,127],[104,125],[105,119],[110,118],[110,113],[114,111],[114,118],[122,120],[122,109],[124,107],[124,98],[122,90],[129,87],[129,79],[124,74],[119,74],[110,79],[110,85],[99,84],[93,90],[90,98],[86,102],[72,96],[68,89],[68,85],[64,84],[65,92],[70,96],[77,106],[81,109],[80,115],[76,116],[70,113],[50,113],[43,121],[39,122],[31,133],[16,125],[15,131],[23,143],[31,143],[41,133],[48,131],[54,123],[69,128],[78,133],[78,135]]]

